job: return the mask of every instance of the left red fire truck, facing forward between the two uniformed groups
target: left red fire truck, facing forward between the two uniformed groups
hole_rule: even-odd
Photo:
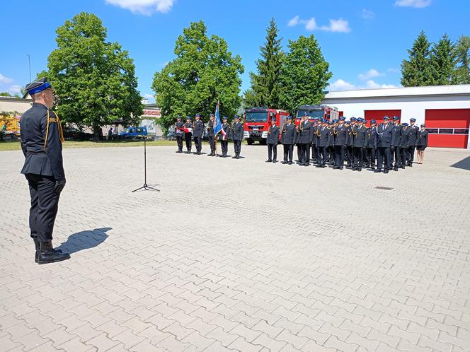
[[[243,123],[243,138],[251,145],[254,141],[265,144],[271,119],[276,119],[279,128],[285,123],[289,112],[269,109],[268,107],[251,107],[246,109]]]

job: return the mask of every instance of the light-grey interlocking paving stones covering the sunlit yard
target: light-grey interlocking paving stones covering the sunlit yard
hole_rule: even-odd
[[[1,351],[470,351],[469,151],[389,175],[174,151],[131,193],[142,148],[64,150],[71,259],[42,266],[0,152]]]

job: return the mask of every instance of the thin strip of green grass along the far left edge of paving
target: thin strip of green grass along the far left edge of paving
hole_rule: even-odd
[[[143,141],[65,141],[64,148],[107,148],[142,146]],[[147,146],[176,146],[176,141],[147,141]],[[0,142],[0,151],[18,151],[21,149],[19,141]]]

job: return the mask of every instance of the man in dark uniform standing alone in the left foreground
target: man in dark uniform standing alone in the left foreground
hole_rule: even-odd
[[[29,83],[25,90],[33,98],[33,106],[21,117],[21,148],[25,156],[21,173],[28,180],[31,196],[29,226],[35,262],[47,264],[70,258],[68,253],[52,247],[59,196],[65,186],[64,136],[59,117],[50,110],[54,103],[50,83],[42,78]]]

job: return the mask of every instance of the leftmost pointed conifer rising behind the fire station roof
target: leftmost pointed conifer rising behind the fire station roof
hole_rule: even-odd
[[[430,42],[422,30],[408,49],[408,60],[401,61],[403,87],[431,86],[434,83],[430,61]]]

